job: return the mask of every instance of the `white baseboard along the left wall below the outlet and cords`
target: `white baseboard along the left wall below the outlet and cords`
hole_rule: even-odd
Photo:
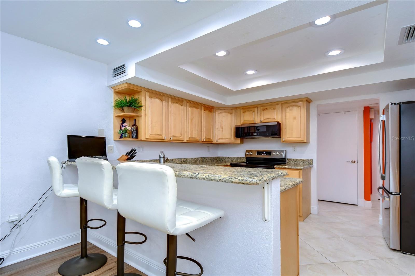
[[[53,239],[33,243],[31,245],[17,247],[13,250],[12,254],[5,259],[2,267],[68,247],[70,245],[75,245],[79,242],[81,242],[81,233],[77,231],[60,237],[55,237]],[[1,252],[0,257],[6,257],[7,254],[9,254],[9,251],[10,250]]]

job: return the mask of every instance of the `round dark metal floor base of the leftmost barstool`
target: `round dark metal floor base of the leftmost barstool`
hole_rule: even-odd
[[[81,276],[100,269],[107,262],[104,254],[93,253],[87,257],[74,257],[59,266],[58,273],[63,276]]]

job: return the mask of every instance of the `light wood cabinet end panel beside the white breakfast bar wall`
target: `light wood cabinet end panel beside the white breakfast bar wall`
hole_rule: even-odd
[[[300,268],[297,194],[298,186],[295,186],[280,195],[281,275],[298,276]]]

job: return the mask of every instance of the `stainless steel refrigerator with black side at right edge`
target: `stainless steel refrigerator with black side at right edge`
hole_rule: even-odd
[[[392,249],[415,254],[415,101],[389,103],[379,121],[378,150],[383,237]]]

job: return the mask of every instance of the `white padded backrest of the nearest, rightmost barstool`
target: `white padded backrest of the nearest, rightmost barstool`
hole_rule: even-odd
[[[118,212],[170,234],[176,228],[176,176],[165,165],[126,162],[117,165]]]

